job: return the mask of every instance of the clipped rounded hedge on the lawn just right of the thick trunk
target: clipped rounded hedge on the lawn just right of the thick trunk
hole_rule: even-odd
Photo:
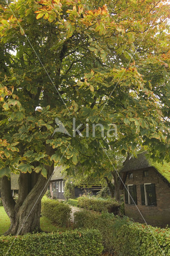
[[[67,226],[70,220],[70,213],[71,209],[68,204],[43,197],[42,216],[48,218],[51,223],[60,227]]]

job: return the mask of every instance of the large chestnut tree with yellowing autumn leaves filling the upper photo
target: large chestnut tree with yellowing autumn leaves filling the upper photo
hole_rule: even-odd
[[[6,234],[40,231],[40,202],[54,163],[79,161],[100,175],[105,169],[95,166],[103,148],[135,154],[139,145],[170,160],[169,6],[163,0],[1,1],[0,13]],[[54,133],[55,118],[67,134]],[[72,118],[83,124],[76,136]],[[104,132],[97,126],[93,136],[97,123]],[[117,126],[112,138],[110,123]],[[16,203],[11,172],[20,174]]]

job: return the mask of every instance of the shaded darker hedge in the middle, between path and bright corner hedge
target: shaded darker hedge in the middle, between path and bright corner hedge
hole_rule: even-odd
[[[92,212],[88,210],[81,210],[74,213],[74,226],[76,228],[95,228],[100,231],[102,235],[102,245],[105,252],[114,253],[114,214],[108,212]]]

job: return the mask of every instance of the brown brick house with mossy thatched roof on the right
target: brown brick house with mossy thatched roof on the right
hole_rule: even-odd
[[[153,226],[170,225],[170,165],[153,162],[144,151],[130,158],[121,173],[125,215]]]

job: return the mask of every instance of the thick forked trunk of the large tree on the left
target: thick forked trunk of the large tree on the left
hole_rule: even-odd
[[[54,165],[44,167],[48,171],[47,178],[35,172],[20,173],[17,202],[12,198],[10,180],[6,176],[0,179],[2,203],[11,221],[10,228],[5,235],[41,232],[41,199],[47,190]]]

